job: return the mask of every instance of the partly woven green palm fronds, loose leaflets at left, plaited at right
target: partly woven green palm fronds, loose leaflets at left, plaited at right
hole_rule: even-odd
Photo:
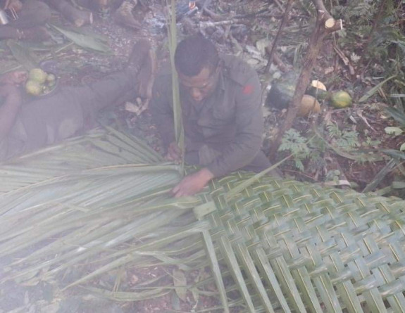
[[[113,129],[4,163],[0,283],[120,302],[186,288],[217,312],[405,312],[404,200],[247,172],[170,198],[180,172]]]

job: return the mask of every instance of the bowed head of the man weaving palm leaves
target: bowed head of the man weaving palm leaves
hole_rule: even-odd
[[[194,101],[202,101],[216,89],[220,58],[216,46],[201,35],[188,37],[178,44],[175,67],[182,87]]]

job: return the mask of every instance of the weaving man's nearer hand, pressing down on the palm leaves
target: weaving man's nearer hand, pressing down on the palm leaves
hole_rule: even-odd
[[[172,189],[171,193],[173,193],[175,198],[192,196],[201,191],[211,179],[213,179],[211,171],[207,168],[203,168],[183,178],[180,184]]]

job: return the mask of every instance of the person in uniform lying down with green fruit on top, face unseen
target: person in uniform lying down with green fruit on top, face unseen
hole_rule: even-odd
[[[125,70],[82,87],[61,87],[55,94],[23,103],[25,72],[0,77],[0,160],[57,143],[94,127],[96,113],[135,96],[150,97],[154,58],[149,41],[132,49]]]

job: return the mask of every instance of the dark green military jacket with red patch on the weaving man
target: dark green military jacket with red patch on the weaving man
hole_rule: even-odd
[[[187,154],[208,146],[218,156],[206,167],[216,177],[248,165],[261,148],[263,113],[257,73],[235,56],[221,56],[223,68],[216,90],[194,103],[180,85],[182,120]],[[154,84],[151,113],[163,146],[175,141],[170,69],[163,69]]]

